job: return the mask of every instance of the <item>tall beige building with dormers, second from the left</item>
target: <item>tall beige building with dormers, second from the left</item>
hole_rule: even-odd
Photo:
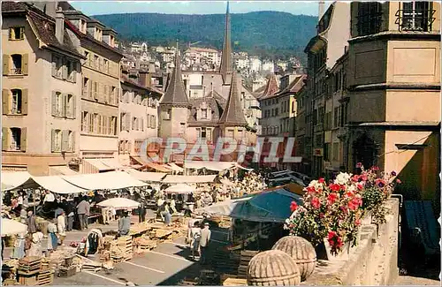
[[[118,158],[120,60],[116,32],[68,7],[68,25],[80,38],[82,63],[80,104],[80,165],[82,173],[99,172],[88,159]],[[116,161],[117,162],[117,161]]]

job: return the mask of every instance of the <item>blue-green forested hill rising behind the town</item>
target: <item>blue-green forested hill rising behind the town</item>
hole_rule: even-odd
[[[112,27],[127,41],[149,45],[199,42],[197,46],[222,49],[225,15],[126,13],[93,16]],[[264,57],[304,58],[304,47],[316,34],[317,18],[279,11],[255,11],[231,15],[234,50]]]

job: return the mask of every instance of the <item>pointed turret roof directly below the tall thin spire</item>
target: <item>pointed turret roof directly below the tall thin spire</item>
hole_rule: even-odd
[[[232,84],[230,86],[229,98],[225,104],[225,110],[219,119],[220,124],[244,126],[248,125],[241,108],[240,94],[238,93],[238,79],[236,72],[232,73]]]

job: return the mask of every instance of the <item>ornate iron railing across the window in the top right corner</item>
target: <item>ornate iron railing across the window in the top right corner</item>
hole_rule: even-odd
[[[396,11],[395,24],[399,31],[431,32],[435,12],[433,9],[400,9]]]

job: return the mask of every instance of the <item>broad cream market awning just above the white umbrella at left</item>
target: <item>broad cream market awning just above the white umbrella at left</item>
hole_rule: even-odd
[[[72,185],[77,185],[88,190],[114,190],[133,186],[147,185],[146,183],[133,178],[124,171],[110,171],[77,176],[64,176],[63,178]]]

